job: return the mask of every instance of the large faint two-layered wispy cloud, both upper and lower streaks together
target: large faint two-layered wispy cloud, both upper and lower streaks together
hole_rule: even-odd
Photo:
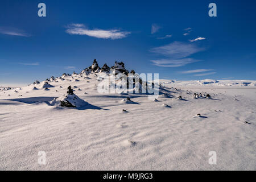
[[[195,44],[173,42],[166,46],[150,49],[151,52],[156,53],[159,57],[166,57],[164,59],[151,60],[151,62],[158,67],[182,67],[186,64],[200,61],[188,56],[203,50],[204,48],[197,47]]]

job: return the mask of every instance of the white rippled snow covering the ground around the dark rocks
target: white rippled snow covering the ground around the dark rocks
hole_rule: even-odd
[[[124,94],[99,94],[96,76],[73,77],[49,82],[49,90],[43,82],[0,90],[1,170],[256,169],[255,81],[162,80],[158,102],[129,94],[134,102],[127,104]],[[49,105],[69,85],[89,107]],[[38,164],[39,151],[46,152],[46,165]],[[208,163],[210,151],[216,165]]]

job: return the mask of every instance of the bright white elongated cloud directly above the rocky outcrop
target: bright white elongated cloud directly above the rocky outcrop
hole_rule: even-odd
[[[122,39],[126,38],[131,32],[127,31],[120,31],[117,29],[113,30],[100,30],[100,29],[94,29],[89,30],[89,28],[86,28],[84,24],[70,24],[66,30],[68,34],[72,35],[87,35],[92,36],[94,38],[99,39]]]

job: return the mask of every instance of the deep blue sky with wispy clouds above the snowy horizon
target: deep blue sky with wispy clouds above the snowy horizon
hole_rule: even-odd
[[[38,4],[46,4],[46,17]],[[217,17],[208,5],[217,5]],[[0,1],[0,85],[123,61],[175,80],[256,79],[255,1]]]

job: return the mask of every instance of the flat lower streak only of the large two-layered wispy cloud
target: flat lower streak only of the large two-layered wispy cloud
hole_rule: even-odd
[[[184,58],[184,59],[159,59],[159,60],[151,60],[153,65],[158,67],[182,67],[186,64],[195,63],[200,60],[195,60],[192,58]]]

